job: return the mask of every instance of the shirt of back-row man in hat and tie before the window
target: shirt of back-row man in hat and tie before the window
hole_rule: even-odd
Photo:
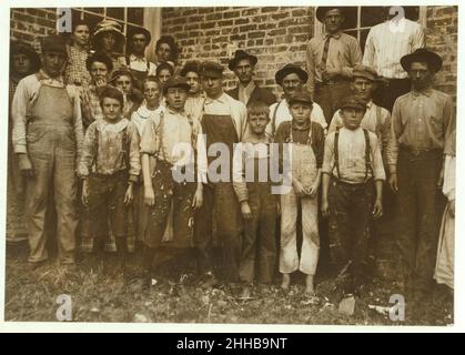
[[[324,43],[330,33],[322,37],[314,37],[309,41],[306,50],[306,71],[309,92],[313,93],[315,83],[323,82],[322,72],[319,65],[322,63]],[[331,34],[327,49],[326,70],[338,71],[345,78],[352,77],[352,68],[362,62],[362,50],[356,38],[344,32]]]

